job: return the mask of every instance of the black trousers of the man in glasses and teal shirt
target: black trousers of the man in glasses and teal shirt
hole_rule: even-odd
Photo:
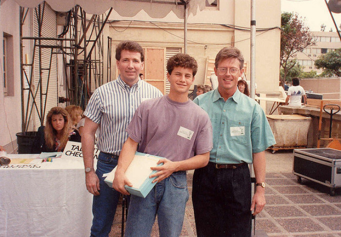
[[[198,237],[251,236],[251,178],[247,164],[196,169],[192,201]]]

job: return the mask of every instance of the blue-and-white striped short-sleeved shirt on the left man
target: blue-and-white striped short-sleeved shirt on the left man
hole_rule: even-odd
[[[162,96],[151,84],[138,80],[129,87],[118,76],[117,80],[97,88],[91,96],[84,115],[100,124],[97,147],[100,151],[119,155],[128,139],[126,128],[135,110],[145,99]]]

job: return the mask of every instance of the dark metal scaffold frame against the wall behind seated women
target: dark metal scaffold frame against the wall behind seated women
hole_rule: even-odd
[[[85,11],[76,5],[69,12],[62,13],[66,14],[66,24],[62,33],[57,37],[46,37],[42,34],[46,4],[44,1],[33,9],[38,25],[38,36],[23,36],[23,25],[30,9],[20,7],[22,131],[27,131],[30,128],[33,113],[38,116],[40,126],[44,124],[49,84],[51,81],[57,80],[57,78],[51,78],[53,57],[57,58],[57,55],[62,55],[62,77],[66,84],[66,98],[59,96],[59,103],[70,102],[70,104],[79,105],[84,109],[91,95],[92,82],[95,82],[95,88],[104,83],[103,29],[113,9],[109,10],[105,18],[103,15],[91,15],[92,17],[87,19]],[[28,40],[29,44],[33,46],[29,57],[31,61],[27,62],[26,58],[25,63],[23,60],[24,40]],[[108,38],[107,72],[110,74],[111,48],[111,39]],[[41,65],[42,56],[46,56],[44,55],[46,50],[42,49],[51,50],[48,68],[43,68]],[[35,71],[38,72],[36,75]],[[46,72],[48,72],[47,81],[43,85],[42,75]],[[107,82],[110,80],[111,75],[108,74]]]

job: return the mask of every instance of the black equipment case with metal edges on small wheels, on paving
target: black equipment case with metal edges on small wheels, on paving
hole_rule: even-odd
[[[341,187],[341,150],[332,148],[294,149],[294,171],[298,182],[308,179],[330,187]]]

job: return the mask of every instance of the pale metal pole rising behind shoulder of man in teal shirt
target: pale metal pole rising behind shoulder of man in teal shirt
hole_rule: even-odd
[[[256,41],[256,0],[251,0],[250,21],[250,97],[255,98],[255,41]]]

